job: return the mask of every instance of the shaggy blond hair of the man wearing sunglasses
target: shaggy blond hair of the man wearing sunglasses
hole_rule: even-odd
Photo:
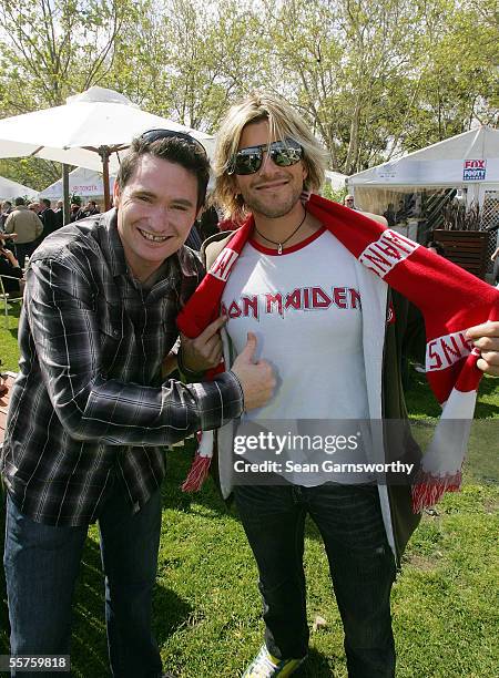
[[[242,196],[237,194],[234,176],[228,174],[231,158],[237,152],[244,127],[263,120],[268,121],[271,138],[291,137],[303,147],[302,162],[307,172],[304,189],[318,191],[324,182],[328,154],[309,132],[305,121],[275,94],[252,92],[228,110],[216,137],[214,198],[224,209],[225,216],[234,222],[242,222],[246,210]]]

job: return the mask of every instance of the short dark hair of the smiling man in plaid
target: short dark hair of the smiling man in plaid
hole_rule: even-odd
[[[202,146],[179,136],[156,138],[152,142],[141,136],[134,138],[118,172],[116,182],[121,189],[132,178],[141,156],[147,153],[170,163],[176,163],[193,174],[197,179],[197,208],[204,204],[210,179],[210,161]]]

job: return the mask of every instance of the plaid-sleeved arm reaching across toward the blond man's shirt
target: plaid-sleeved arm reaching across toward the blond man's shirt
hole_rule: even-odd
[[[108,378],[100,318],[80,266],[34,261],[26,294],[42,379],[73,439],[167,445],[241,414],[241,388],[230,373],[211,383],[172,380],[160,388]]]

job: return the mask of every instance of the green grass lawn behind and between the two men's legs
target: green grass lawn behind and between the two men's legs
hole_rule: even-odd
[[[14,320],[0,328],[0,357],[16,369]],[[498,381],[485,379],[478,417],[499,418]],[[408,403],[416,417],[438,415],[422,376],[410,373]],[[496,419],[496,421],[491,421]],[[493,440],[493,439],[492,439]],[[497,443],[497,436],[496,436]],[[491,443],[493,444],[493,443]],[[262,643],[257,573],[238,518],[212,482],[196,495],[179,486],[193,444],[170,454],[154,596],[154,631],[164,665],[182,678],[233,678]],[[493,452],[493,448],[489,450]],[[394,587],[397,678],[490,678],[497,675],[497,483],[466,484],[424,515]],[[342,625],[317,530],[307,525],[306,573],[310,658],[302,676],[345,678]],[[90,528],[74,598],[73,675],[106,678],[103,582],[94,526]],[[8,651],[4,594],[0,654]]]

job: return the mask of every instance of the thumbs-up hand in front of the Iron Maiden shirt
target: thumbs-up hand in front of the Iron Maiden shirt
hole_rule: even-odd
[[[245,410],[254,410],[266,404],[276,387],[271,366],[266,360],[255,362],[255,351],[256,337],[253,332],[248,332],[247,343],[232,367],[243,388]]]

